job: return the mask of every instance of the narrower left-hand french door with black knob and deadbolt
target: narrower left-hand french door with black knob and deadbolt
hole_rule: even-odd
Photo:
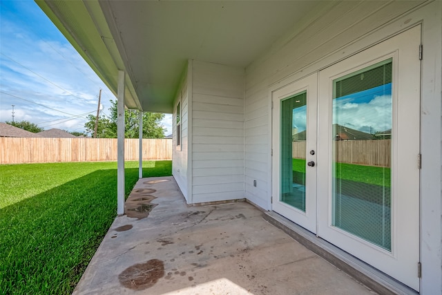
[[[273,92],[273,210],[316,233],[315,73]],[[277,115],[276,115],[277,114]]]

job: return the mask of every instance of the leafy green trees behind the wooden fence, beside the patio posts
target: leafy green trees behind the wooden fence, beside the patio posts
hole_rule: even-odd
[[[117,137],[117,102],[111,99],[111,115],[107,118],[100,116],[98,118],[97,137],[99,138],[115,138]],[[88,122],[84,124],[87,133],[94,133],[95,116],[88,115]],[[164,126],[161,124],[164,114],[160,113],[143,113],[143,138],[163,138]],[[139,137],[139,111],[126,110],[124,112],[124,137]]]

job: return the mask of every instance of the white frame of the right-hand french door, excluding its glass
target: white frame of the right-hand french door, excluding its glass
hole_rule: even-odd
[[[416,26],[319,73],[318,236],[419,291],[420,61]],[[332,81],[393,58],[392,251],[332,226]],[[410,115],[411,114],[411,115]],[[412,137],[410,140],[409,138]]]

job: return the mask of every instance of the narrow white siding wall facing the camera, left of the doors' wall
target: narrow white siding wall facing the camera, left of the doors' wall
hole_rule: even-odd
[[[244,198],[244,69],[192,64],[192,202]]]

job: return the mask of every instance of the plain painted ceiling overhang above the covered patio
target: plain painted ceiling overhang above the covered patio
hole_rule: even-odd
[[[37,4],[127,108],[172,113],[187,60],[247,67],[330,1],[53,1]],[[296,29],[298,27],[298,30]]]

